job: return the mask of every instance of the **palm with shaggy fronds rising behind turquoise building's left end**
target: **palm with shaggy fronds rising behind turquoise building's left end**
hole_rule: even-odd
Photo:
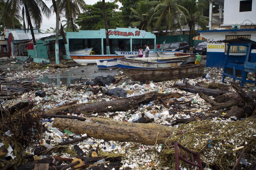
[[[80,15],[80,9],[85,10],[86,4],[83,0],[61,0],[60,15],[66,17],[68,23],[72,25],[75,32],[74,20]]]

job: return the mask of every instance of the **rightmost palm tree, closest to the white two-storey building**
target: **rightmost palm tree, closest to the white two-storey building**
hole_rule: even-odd
[[[202,7],[204,6],[204,4],[199,4],[196,2],[196,0],[183,0],[181,5],[187,9],[184,10],[186,21],[183,21],[183,24],[188,25],[189,27],[188,44],[190,45],[191,33],[193,36],[195,31],[195,25],[198,24],[200,27],[206,28],[208,17],[202,16],[202,9],[198,8],[198,5]]]

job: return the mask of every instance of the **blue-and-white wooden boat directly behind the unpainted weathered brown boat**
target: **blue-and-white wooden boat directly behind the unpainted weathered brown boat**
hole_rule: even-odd
[[[167,68],[174,67],[182,64],[182,60],[172,60],[172,61],[133,61],[133,60],[125,60],[125,59],[117,59],[117,65],[119,68]]]

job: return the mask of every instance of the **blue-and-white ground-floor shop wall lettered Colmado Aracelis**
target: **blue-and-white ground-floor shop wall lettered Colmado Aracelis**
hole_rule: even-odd
[[[250,30],[211,30],[200,31],[202,37],[207,39],[207,67],[224,67],[226,58],[225,47],[226,44],[218,42],[225,40],[226,35],[251,35],[251,40],[256,41],[256,29]],[[245,53],[229,53],[228,61],[242,62]],[[256,50],[251,52],[252,62],[256,62]]]

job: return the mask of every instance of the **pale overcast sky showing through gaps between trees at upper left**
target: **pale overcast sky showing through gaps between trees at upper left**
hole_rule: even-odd
[[[50,8],[50,6],[52,5],[52,2],[45,1],[45,0],[43,0],[43,1]],[[93,5],[96,2],[98,2],[99,0],[84,0],[84,1],[85,1],[85,3],[87,5]],[[110,0],[105,0],[105,2],[111,2],[111,1]],[[121,4],[118,4],[118,5],[120,7]],[[61,20],[66,20],[66,19],[65,18],[61,18]],[[62,25],[64,25],[64,24],[65,23],[62,23]],[[50,19],[48,19],[46,17],[43,17],[43,23],[41,25],[41,30],[46,31],[47,29],[50,29],[50,27],[52,27],[52,28],[56,27],[56,15],[55,14],[53,14]]]

